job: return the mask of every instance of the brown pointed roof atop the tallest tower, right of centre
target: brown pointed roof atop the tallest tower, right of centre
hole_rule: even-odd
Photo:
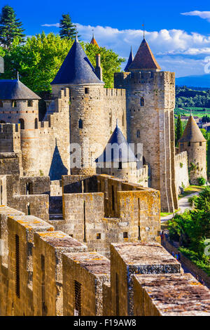
[[[155,56],[153,55],[151,48],[148,46],[145,39],[141,42],[129,70],[161,70],[160,65],[155,60]]]

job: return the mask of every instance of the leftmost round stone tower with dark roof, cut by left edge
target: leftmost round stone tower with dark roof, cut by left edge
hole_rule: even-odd
[[[20,124],[22,167],[27,176],[37,172],[38,100],[19,79],[0,80],[0,121]]]

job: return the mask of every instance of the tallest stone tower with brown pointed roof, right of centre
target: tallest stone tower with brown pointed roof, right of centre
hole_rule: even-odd
[[[175,74],[161,72],[144,39],[127,68],[115,74],[115,88],[125,88],[127,138],[143,144],[144,164],[150,169],[151,187],[160,190],[161,208],[178,208],[175,187],[174,107]],[[137,157],[140,155],[137,154]]]

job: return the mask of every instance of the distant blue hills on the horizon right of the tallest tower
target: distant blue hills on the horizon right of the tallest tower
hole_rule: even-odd
[[[210,74],[176,78],[176,85],[210,88]]]

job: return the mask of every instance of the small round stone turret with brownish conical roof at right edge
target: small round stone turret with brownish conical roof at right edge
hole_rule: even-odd
[[[197,179],[201,177],[207,180],[207,140],[202,135],[192,114],[190,114],[183,136],[179,139],[179,151],[188,152],[190,183],[197,185]]]

